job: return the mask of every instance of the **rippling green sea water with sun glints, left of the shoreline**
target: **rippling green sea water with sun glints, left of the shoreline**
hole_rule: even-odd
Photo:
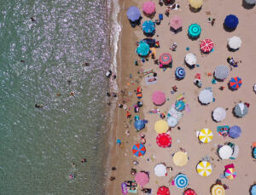
[[[0,194],[102,194],[108,6],[12,0],[0,10]]]

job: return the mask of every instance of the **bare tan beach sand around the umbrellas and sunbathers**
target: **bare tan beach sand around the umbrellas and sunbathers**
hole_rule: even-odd
[[[119,69],[117,72],[119,82],[119,100],[118,103],[127,106],[130,109],[131,118],[126,118],[126,111],[124,108],[116,108],[116,116],[113,124],[113,141],[117,139],[122,141],[122,146],[113,144],[111,154],[111,167],[109,168],[110,176],[114,176],[115,180],[109,181],[107,194],[122,194],[121,184],[123,181],[134,180],[134,175],[131,175],[131,168],[139,171],[149,172],[149,182],[145,188],[151,188],[152,193],[156,194],[160,186],[167,186],[171,194],[183,194],[184,189],[179,189],[172,185],[173,178],[178,173],[183,173],[189,178],[189,185],[187,188],[195,190],[196,194],[204,195],[211,194],[211,186],[217,179],[220,179],[223,184],[229,188],[225,190],[225,194],[249,194],[250,186],[256,182],[255,162],[252,158],[251,146],[253,141],[256,141],[256,132],[253,129],[256,126],[254,120],[254,113],[256,112],[255,92],[253,92],[253,85],[256,83],[254,72],[255,55],[253,51],[256,50],[256,41],[253,39],[253,32],[256,31],[256,23],[251,21],[256,18],[255,7],[247,9],[242,6],[240,0],[215,0],[204,1],[201,10],[192,12],[189,9],[189,1],[180,0],[175,3],[180,4],[177,10],[171,10],[170,15],[165,15],[166,5],[160,6],[157,0],[156,14],[152,19],[149,19],[143,14],[142,1],[120,1],[121,12],[119,20],[122,25],[122,32],[119,41]],[[145,38],[143,31],[139,26],[132,28],[129,20],[126,17],[126,11],[131,6],[137,6],[140,9],[143,19],[155,20],[158,19],[159,14],[164,14],[164,19],[161,20],[160,26],[155,26],[154,39],[160,42],[160,48],[156,49],[155,59],[159,59],[160,54],[172,54],[172,68],[163,68],[154,64],[154,60],[149,58],[148,61],[135,66],[134,61],[139,60],[139,57],[134,52],[137,48],[137,41]],[[236,14],[239,19],[239,24],[235,31],[227,32],[224,30],[224,19],[228,14]],[[174,34],[170,31],[170,18],[178,15],[183,20],[183,29],[181,32]],[[207,22],[211,17],[215,19],[212,26]],[[201,26],[201,35],[197,40],[191,40],[188,37],[188,27],[192,23],[197,23]],[[235,52],[227,49],[228,38],[232,36],[241,37],[241,48]],[[201,54],[200,43],[201,40],[210,38],[214,42],[214,51],[210,54]],[[172,51],[171,43],[177,43],[177,50]],[[184,57],[188,53],[193,53],[197,57],[199,66],[194,69],[189,69],[184,63]],[[241,60],[238,67],[230,69],[229,76],[223,82],[212,84],[212,76],[208,73],[214,72],[219,65],[229,66],[227,57],[232,56],[236,60]],[[182,66],[186,72],[183,80],[178,81],[175,78],[175,70],[178,66]],[[143,70],[153,69],[157,73],[157,83],[147,85]],[[195,75],[201,75],[201,89],[196,87],[193,83]],[[242,85],[240,89],[232,91],[228,88],[228,83],[231,77],[241,77]],[[177,86],[177,92],[172,94],[172,87]],[[221,86],[225,88],[219,89]],[[138,113],[133,112],[133,105],[137,103],[137,96],[135,90],[137,87],[142,87],[143,107]],[[201,105],[198,101],[198,95],[202,89],[211,87],[215,101],[207,106]],[[155,90],[160,90],[166,94],[166,102],[162,106],[155,106],[151,97]],[[123,91],[123,92],[121,92]],[[149,110],[158,108],[160,112],[167,113],[172,105],[177,100],[178,95],[183,95],[189,109],[183,111],[183,117],[178,121],[177,126],[172,128],[172,146],[162,148],[156,143],[157,133],[154,131],[154,123],[160,120],[159,114],[150,114]],[[122,102],[125,100],[125,102]],[[236,118],[232,110],[240,101],[248,102],[250,104],[247,116],[243,118]],[[212,111],[218,106],[226,110],[226,117],[220,123],[212,120]],[[189,111],[190,110],[190,111]],[[146,128],[137,132],[133,126],[134,116],[137,115],[141,119],[148,120]],[[166,120],[166,119],[165,119]],[[238,125],[241,127],[241,136],[237,139],[231,139],[229,136],[224,137],[218,135],[217,126],[220,125]],[[210,143],[200,144],[196,131],[201,129],[211,129],[213,139]],[[129,131],[129,135],[128,135]],[[145,134],[147,140],[145,147],[147,152],[143,157],[137,158],[132,154],[131,148],[137,144],[140,139],[140,134]],[[225,142],[232,142],[239,146],[240,152],[236,159],[222,160],[218,157],[218,145],[224,145]],[[183,148],[189,156],[189,162],[183,167],[177,167],[172,161],[172,154]],[[212,174],[207,177],[202,177],[196,172],[196,165],[201,161],[201,158],[209,158],[212,164]],[[133,163],[136,160],[137,165]],[[158,177],[154,175],[154,166],[157,163],[166,163],[167,166],[172,167],[165,177]],[[234,180],[221,178],[224,174],[224,166],[233,163],[237,172]],[[137,194],[143,194],[141,186],[137,189]]]

